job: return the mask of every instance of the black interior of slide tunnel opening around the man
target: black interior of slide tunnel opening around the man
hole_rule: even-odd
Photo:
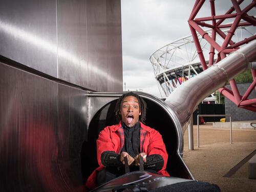
[[[170,176],[191,179],[180,156],[178,156],[179,137],[172,118],[160,104],[145,99],[147,104],[145,124],[156,129],[162,135],[168,153],[167,172]],[[84,181],[98,167],[96,140],[106,126],[117,124],[114,109],[117,100],[103,106],[92,118],[88,129],[88,141],[84,142],[81,152],[81,167]],[[183,137],[182,137],[183,142]]]

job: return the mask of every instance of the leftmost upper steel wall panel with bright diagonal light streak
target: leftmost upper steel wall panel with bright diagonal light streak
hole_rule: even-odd
[[[3,0],[0,55],[57,77],[56,2]]]

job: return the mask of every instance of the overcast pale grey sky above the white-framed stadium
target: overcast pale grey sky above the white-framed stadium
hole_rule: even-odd
[[[160,47],[190,35],[188,17],[195,1],[121,0],[123,83],[126,90],[142,89],[160,97],[153,67],[148,59]],[[244,5],[251,1],[245,1]],[[224,14],[230,1],[215,1],[216,14]],[[205,1],[199,16],[210,16]],[[124,86],[123,86],[124,90]]]

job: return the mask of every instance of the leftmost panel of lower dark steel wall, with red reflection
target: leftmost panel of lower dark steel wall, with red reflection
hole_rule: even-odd
[[[56,182],[57,84],[0,63],[0,191]]]

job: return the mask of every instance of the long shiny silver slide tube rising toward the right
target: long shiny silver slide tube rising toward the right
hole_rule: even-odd
[[[248,62],[256,59],[256,40],[191,78],[169,95],[165,100],[175,112],[183,132],[197,105],[209,94],[223,87],[229,80],[246,70]]]

